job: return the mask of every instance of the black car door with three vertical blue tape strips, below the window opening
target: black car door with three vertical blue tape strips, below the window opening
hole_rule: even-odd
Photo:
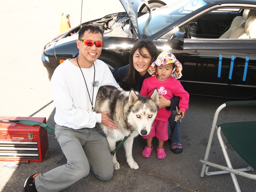
[[[155,42],[165,49],[164,41]],[[256,39],[184,39],[169,49],[182,63],[181,81],[190,94],[248,98],[256,94]]]

